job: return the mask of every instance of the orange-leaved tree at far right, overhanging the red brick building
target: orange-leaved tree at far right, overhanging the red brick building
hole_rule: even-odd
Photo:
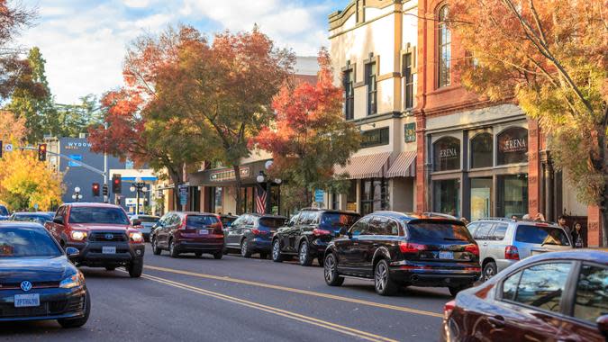
[[[580,200],[603,212],[608,246],[608,23],[602,0],[451,0],[450,25],[475,62],[462,82],[513,97],[549,136]]]

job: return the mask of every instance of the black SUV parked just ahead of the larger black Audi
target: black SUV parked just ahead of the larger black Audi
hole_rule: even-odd
[[[352,211],[305,209],[295,214],[286,227],[281,227],[272,239],[272,260],[298,256],[300,265],[311,266],[313,259],[323,265],[325,248],[332,238],[340,236],[360,215]]]

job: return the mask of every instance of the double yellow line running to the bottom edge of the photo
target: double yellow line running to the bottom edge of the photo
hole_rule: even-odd
[[[149,279],[153,282],[157,282],[159,284],[165,284],[168,286],[173,286],[176,287],[178,289],[181,290],[186,290],[192,293],[197,293],[197,294],[202,294],[208,297],[212,297],[218,300],[222,300],[225,302],[231,302],[234,304],[238,304],[238,305],[242,305],[251,309],[256,309],[259,311],[264,311],[264,312],[268,312],[268,313],[272,313],[275,314],[277,316],[281,316],[281,317],[285,317],[286,319],[290,319],[290,320],[297,320],[299,322],[303,322],[306,324],[310,324],[319,328],[324,328],[324,329],[330,329],[336,332],[339,332],[341,334],[345,334],[345,335],[349,335],[351,337],[355,337],[355,338],[363,338],[366,339],[368,341],[384,341],[384,342],[394,342],[396,341],[395,339],[391,339],[391,338],[385,338],[382,336],[378,336],[378,335],[374,335],[371,333],[368,333],[366,331],[361,331],[358,329],[352,329],[349,327],[344,327],[344,326],[340,326],[338,324],[334,324],[325,320],[319,320],[319,319],[315,319],[313,317],[309,317],[309,316],[304,316],[301,315],[299,313],[295,313],[292,311],[285,311],[285,310],[281,310],[281,309],[277,309],[268,305],[263,305],[263,304],[259,304],[257,302],[250,302],[250,301],[246,301],[246,300],[242,300],[240,298],[236,298],[236,297],[232,297],[226,294],[222,294],[222,293],[215,293],[213,291],[208,291],[208,290],[204,290],[201,289],[199,287],[195,287],[195,286],[190,286],[188,284],[183,284],[183,283],[177,283],[174,282],[172,280],[168,280],[168,279],[164,279],[164,278],[160,278],[158,276],[154,276],[154,275],[141,275],[143,278]]]

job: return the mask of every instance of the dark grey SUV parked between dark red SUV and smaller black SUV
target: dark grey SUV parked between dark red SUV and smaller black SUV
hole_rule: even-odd
[[[285,216],[258,213],[240,215],[231,227],[224,229],[226,252],[239,250],[242,257],[259,253],[260,258],[266,259],[270,254],[272,237],[286,221]]]

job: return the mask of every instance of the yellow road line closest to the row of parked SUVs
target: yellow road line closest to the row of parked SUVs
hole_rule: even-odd
[[[252,286],[259,286],[259,287],[263,287],[263,288],[267,288],[267,289],[286,291],[286,292],[289,292],[289,293],[299,293],[299,294],[305,294],[305,295],[310,295],[310,296],[314,296],[314,297],[321,297],[321,298],[325,298],[325,299],[331,299],[331,300],[335,300],[335,301],[351,302],[351,303],[356,303],[356,304],[361,304],[361,305],[368,305],[368,306],[372,306],[372,307],[376,307],[376,308],[381,308],[381,309],[388,309],[388,310],[394,310],[394,311],[402,311],[402,312],[407,312],[407,313],[414,313],[414,314],[423,315],[423,316],[437,317],[437,318],[440,318],[440,319],[443,318],[443,315],[440,314],[440,313],[437,313],[437,312],[423,311],[423,310],[418,310],[418,309],[413,309],[413,308],[407,308],[407,307],[398,306],[398,305],[382,304],[382,303],[379,303],[379,302],[369,302],[369,301],[358,300],[358,299],[354,299],[354,298],[341,297],[341,296],[337,296],[337,295],[329,294],[329,293],[315,293],[313,291],[295,289],[293,287],[285,287],[285,286],[279,286],[279,285],[273,285],[273,284],[252,282],[252,281],[244,280],[244,279],[231,278],[229,276],[205,275],[205,274],[201,274],[201,273],[188,272],[188,271],[182,271],[182,270],[176,270],[176,269],[165,268],[165,267],[158,267],[158,266],[144,266],[144,267],[148,268],[150,270],[161,271],[161,272],[168,272],[168,273],[173,273],[173,274],[176,274],[176,275],[190,275],[190,276],[195,276],[195,277],[199,277],[199,278],[220,280],[220,281],[223,281],[223,282],[230,282],[230,283],[236,283],[236,284],[246,284],[246,285],[252,285]]]

